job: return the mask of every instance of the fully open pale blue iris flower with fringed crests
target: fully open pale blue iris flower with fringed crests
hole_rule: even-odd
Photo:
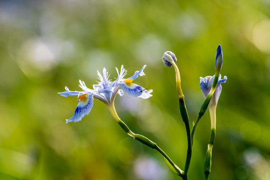
[[[58,92],[60,95],[64,97],[76,95],[78,96],[78,105],[75,109],[75,112],[71,118],[66,119],[66,123],[69,121],[80,121],[84,115],[88,114],[93,106],[93,98],[101,100],[106,105],[110,105],[111,103],[113,103],[114,97],[117,93],[122,96],[123,92],[125,92],[130,96],[141,98],[148,98],[152,96],[152,94],[150,94],[153,91],[152,89],[146,90],[145,88],[132,83],[132,81],[138,76],[145,75],[143,72],[145,66],[146,65],[143,65],[139,71],[135,71],[135,73],[131,77],[128,77],[126,79],[124,78],[124,76],[126,75],[127,71],[123,68],[123,65],[121,66],[120,73],[115,67],[118,77],[114,81],[108,79],[109,74],[106,71],[105,67],[102,71],[103,76],[97,70],[99,81],[97,84],[93,85],[93,89],[88,88],[85,85],[84,81],[81,80],[79,80],[79,87],[82,89],[82,91],[70,91],[65,86],[65,91]]]

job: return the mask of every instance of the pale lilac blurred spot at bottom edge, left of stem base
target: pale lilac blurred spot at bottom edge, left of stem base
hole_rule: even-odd
[[[144,180],[163,180],[165,179],[165,170],[160,167],[155,159],[141,157],[134,165],[135,175]]]

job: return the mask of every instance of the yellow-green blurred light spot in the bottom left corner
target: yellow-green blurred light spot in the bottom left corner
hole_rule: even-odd
[[[23,153],[0,148],[0,172],[20,179],[26,178],[32,168],[33,159]]]

